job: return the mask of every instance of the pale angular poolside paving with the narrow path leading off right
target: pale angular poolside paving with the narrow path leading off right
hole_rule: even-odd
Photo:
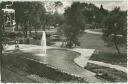
[[[91,55],[93,54],[95,49],[79,49],[79,48],[77,49],[77,48],[74,48],[73,51],[81,53],[81,55],[79,57],[74,59],[74,62],[81,67],[85,67],[87,65],[87,63],[89,62],[89,63],[93,63],[96,65],[108,67],[108,68],[114,68],[116,70],[127,73],[127,68],[125,68],[125,67],[122,67],[119,65],[112,65],[109,63],[104,63],[104,62],[99,62],[99,61],[89,60],[89,58],[91,57]]]

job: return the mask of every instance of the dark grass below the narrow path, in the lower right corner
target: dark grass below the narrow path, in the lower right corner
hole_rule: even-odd
[[[122,71],[117,71],[115,69],[98,66],[91,63],[88,63],[85,69],[97,73],[97,77],[108,80],[110,82],[127,82],[127,74]],[[102,75],[98,75],[99,73]]]

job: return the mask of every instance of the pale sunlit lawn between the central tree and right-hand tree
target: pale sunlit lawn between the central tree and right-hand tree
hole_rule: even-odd
[[[117,52],[114,48],[106,47],[106,43],[101,39],[101,35],[95,35],[95,34],[89,34],[89,33],[83,33],[80,38],[80,47],[81,48],[89,48],[89,49],[96,49],[101,52],[109,52],[109,53],[115,53]],[[125,47],[120,47],[121,52],[127,52]]]

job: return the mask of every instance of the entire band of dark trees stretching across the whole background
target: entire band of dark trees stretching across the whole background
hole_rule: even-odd
[[[5,8],[5,4],[6,2],[2,2],[1,8]],[[37,35],[36,31],[39,28],[45,30],[46,26],[58,24],[67,39],[67,44],[72,47],[78,43],[80,33],[88,28],[86,24],[92,28],[103,27],[103,40],[109,46],[114,45],[120,53],[118,46],[126,44],[126,11],[121,11],[120,8],[108,11],[102,5],[98,8],[91,3],[73,2],[65,9],[64,14],[59,14],[57,9],[61,6],[63,4],[59,1],[50,3],[48,7],[44,2],[14,2],[12,8],[16,11],[16,29],[19,30],[20,26],[27,37],[28,31],[31,35],[34,29]],[[52,12],[48,12],[47,9]]]

